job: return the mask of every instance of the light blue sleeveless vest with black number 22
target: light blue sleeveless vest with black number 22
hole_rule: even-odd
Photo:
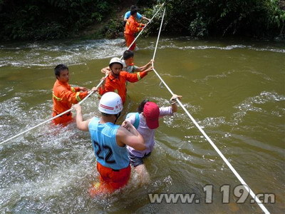
[[[118,146],[116,133],[120,126],[113,123],[99,123],[92,118],[88,124],[89,133],[97,161],[108,168],[120,170],[130,164],[126,146]]]

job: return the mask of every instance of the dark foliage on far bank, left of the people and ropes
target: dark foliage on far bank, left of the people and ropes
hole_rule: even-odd
[[[111,0],[0,0],[0,38],[55,39],[69,37],[99,23]]]

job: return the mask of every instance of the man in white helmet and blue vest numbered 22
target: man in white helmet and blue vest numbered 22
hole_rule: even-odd
[[[97,160],[97,169],[100,174],[100,183],[95,183],[90,188],[91,196],[102,193],[113,193],[123,188],[130,179],[130,160],[126,146],[131,146],[137,151],[145,150],[145,142],[128,121],[123,126],[115,125],[123,103],[120,96],[115,92],[103,94],[100,98],[98,109],[100,118],[83,120],[81,106],[73,106],[76,110],[76,125],[81,131],[89,131],[92,145]]]

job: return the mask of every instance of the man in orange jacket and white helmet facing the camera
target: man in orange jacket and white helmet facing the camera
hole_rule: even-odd
[[[106,92],[113,91],[120,95],[123,103],[125,103],[127,96],[127,88],[125,83],[127,81],[135,83],[146,76],[148,72],[152,71],[152,67],[138,73],[128,73],[127,71],[122,71],[123,62],[118,57],[111,58],[109,67],[110,73],[105,78],[105,83],[98,88],[98,93],[103,95]]]

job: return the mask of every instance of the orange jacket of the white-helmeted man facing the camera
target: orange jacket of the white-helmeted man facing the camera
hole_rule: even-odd
[[[127,88],[125,87],[126,81],[135,83],[141,78],[147,75],[147,72],[142,71],[138,73],[128,73],[127,71],[120,71],[118,78],[112,76],[111,73],[105,79],[105,85],[98,88],[98,93],[103,95],[106,92],[113,91],[120,95],[123,103],[125,103],[125,97],[127,96]]]

